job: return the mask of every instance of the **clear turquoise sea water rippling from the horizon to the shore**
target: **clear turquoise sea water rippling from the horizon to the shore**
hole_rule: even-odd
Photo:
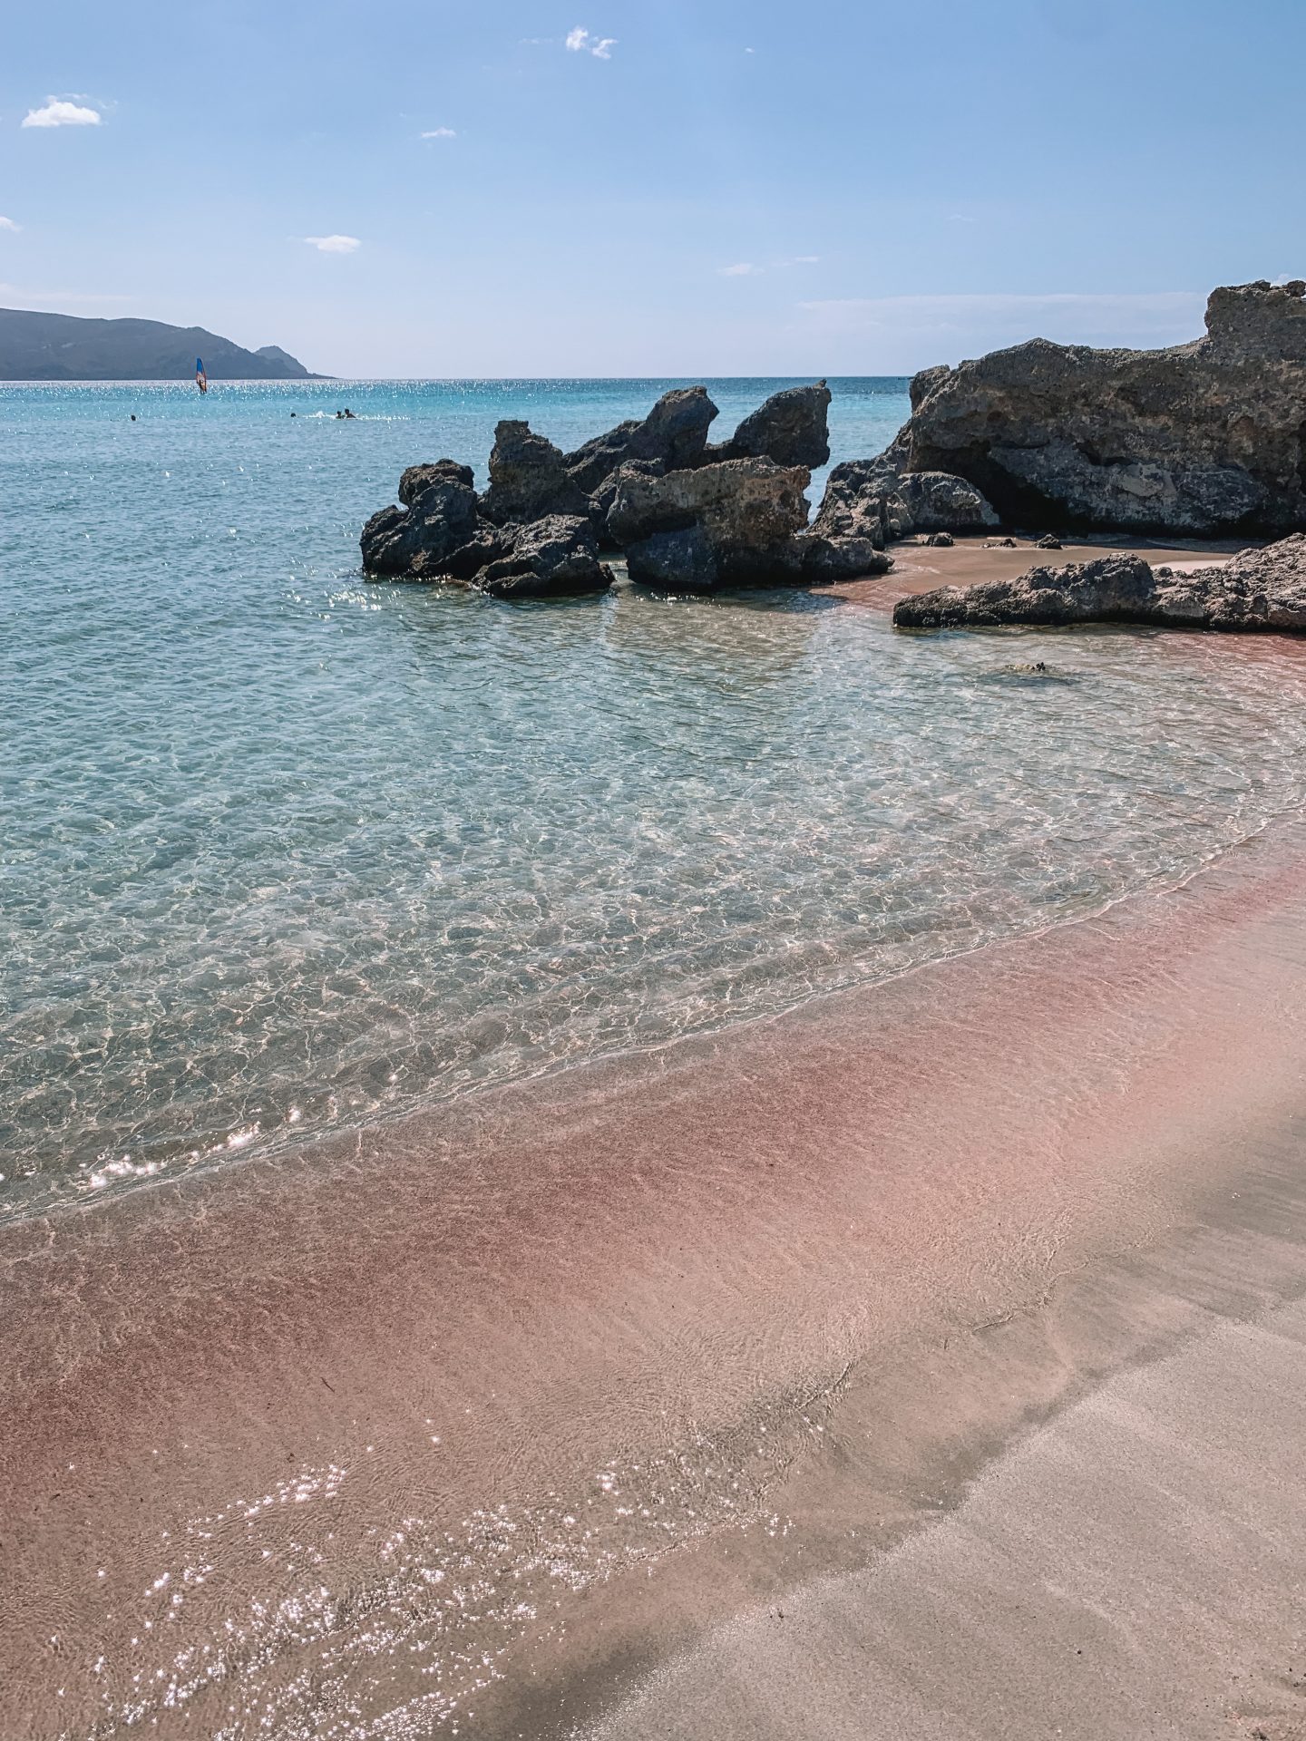
[[[665,385],[0,388],[0,1212],[895,973],[1303,801],[1292,648],[360,580],[404,465]],[[778,385],[712,383],[717,434]],[[883,447],[904,383],[832,385],[834,460]]]

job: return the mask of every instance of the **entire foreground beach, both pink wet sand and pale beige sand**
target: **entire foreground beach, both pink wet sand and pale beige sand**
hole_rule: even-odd
[[[1289,1741],[1304,1039],[1285,820],[7,1229],[0,1732]]]

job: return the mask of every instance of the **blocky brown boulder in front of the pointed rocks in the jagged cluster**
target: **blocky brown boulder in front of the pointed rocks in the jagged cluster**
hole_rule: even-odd
[[[710,592],[728,585],[775,585],[801,578],[808,503],[804,467],[771,460],[724,460],[693,472],[656,474],[625,465],[608,514],[611,538],[625,548],[632,580]],[[702,533],[670,541],[667,533]],[[650,540],[656,540],[650,543]],[[705,550],[710,552],[710,564]],[[688,562],[681,580],[672,559]]]

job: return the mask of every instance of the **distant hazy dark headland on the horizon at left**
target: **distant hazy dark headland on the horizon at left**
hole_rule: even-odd
[[[322,381],[280,345],[244,350],[204,327],[0,308],[0,381]]]

